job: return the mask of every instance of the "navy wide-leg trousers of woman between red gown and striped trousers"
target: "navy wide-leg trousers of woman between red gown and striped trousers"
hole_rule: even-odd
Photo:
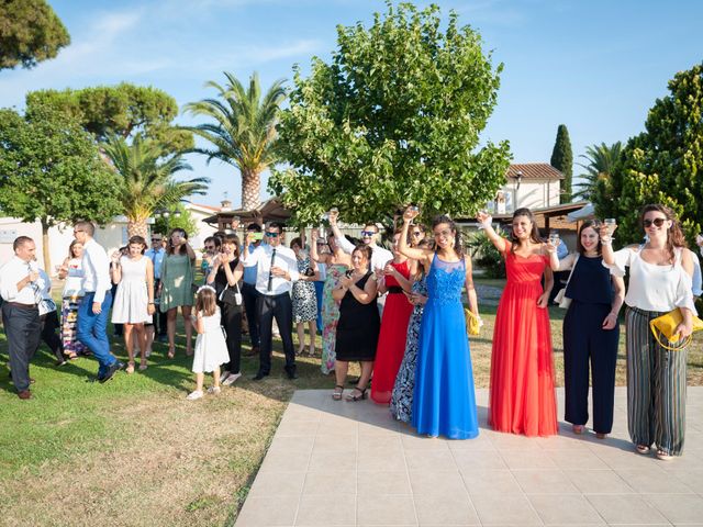
[[[615,363],[620,326],[603,329],[609,304],[572,301],[563,318],[565,419],[574,425],[589,421],[589,362],[593,385],[593,430],[613,428]]]

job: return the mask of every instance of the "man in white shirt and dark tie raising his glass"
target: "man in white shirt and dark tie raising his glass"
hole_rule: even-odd
[[[286,352],[286,373],[289,379],[298,379],[295,373],[295,350],[293,348],[293,303],[290,298],[292,283],[298,280],[295,254],[281,245],[282,225],[270,223],[266,227],[266,244],[249,253],[253,233],[248,232],[244,242],[242,264],[245,268],[257,266],[256,290],[259,293],[257,312],[259,321],[259,371],[254,377],[260,381],[271,371],[271,329],[274,318],[278,325]]]

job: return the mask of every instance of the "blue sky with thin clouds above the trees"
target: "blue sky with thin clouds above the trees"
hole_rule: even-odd
[[[327,59],[336,25],[386,11],[379,0],[49,0],[72,43],[33,70],[0,71],[0,105],[22,108],[27,91],[129,81],[174,96],[179,105],[212,96],[222,71],[265,87]],[[425,5],[428,2],[416,2]],[[504,63],[499,102],[484,138],[509,139],[515,162],[549,161],[557,126],[569,128],[574,157],[588,145],[640,132],[667,81],[703,59],[703,2],[649,0],[450,0],[446,14],[478,30]],[[181,116],[179,122],[191,122]],[[235,205],[235,169],[190,158],[212,178],[207,197]],[[576,167],[574,173],[579,167]],[[264,183],[264,189],[266,183]]]

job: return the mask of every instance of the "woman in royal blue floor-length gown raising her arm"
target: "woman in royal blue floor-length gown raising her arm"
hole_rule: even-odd
[[[408,231],[417,211],[403,214],[399,249],[417,260],[427,274],[427,302],[420,327],[412,426],[419,434],[470,439],[479,435],[473,372],[466,333],[461,289],[478,316],[471,258],[465,256],[454,222],[445,215],[432,223],[434,249],[411,248]]]

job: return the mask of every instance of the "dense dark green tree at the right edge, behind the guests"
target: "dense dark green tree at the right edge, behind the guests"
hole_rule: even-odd
[[[632,137],[593,195],[596,213],[618,220],[622,243],[641,239],[639,210],[671,206],[689,239],[703,225],[703,64],[678,72],[657,99],[645,132]]]

